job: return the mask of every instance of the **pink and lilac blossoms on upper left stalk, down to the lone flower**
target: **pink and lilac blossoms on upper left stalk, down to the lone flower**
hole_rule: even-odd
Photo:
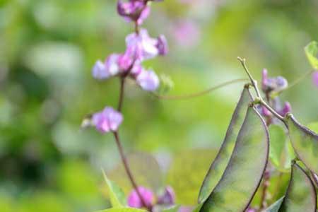
[[[147,91],[154,91],[159,87],[160,81],[153,70],[147,70],[142,62],[147,59],[165,55],[168,52],[167,40],[164,35],[151,37],[146,29],[139,29],[150,13],[150,1],[158,0],[129,0],[117,3],[119,16],[136,24],[136,32],[126,36],[126,50],[124,53],[110,54],[105,61],[96,61],[93,66],[93,78],[100,81],[118,76],[119,78],[132,78]],[[122,123],[122,114],[112,107],[106,107],[102,112],[93,114],[90,125],[98,131],[105,133],[117,131]]]

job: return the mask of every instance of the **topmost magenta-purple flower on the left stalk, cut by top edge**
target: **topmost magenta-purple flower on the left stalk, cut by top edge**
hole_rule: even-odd
[[[122,2],[119,0],[117,11],[126,20],[135,21],[138,25],[141,25],[143,20],[148,17],[150,7],[147,6],[146,1],[129,0],[128,2]]]

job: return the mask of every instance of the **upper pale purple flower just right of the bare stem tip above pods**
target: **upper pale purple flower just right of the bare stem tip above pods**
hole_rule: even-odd
[[[263,69],[262,79],[261,79],[261,89],[264,93],[269,93],[271,91],[281,91],[288,87],[288,81],[282,76],[276,78],[268,78],[267,70]]]

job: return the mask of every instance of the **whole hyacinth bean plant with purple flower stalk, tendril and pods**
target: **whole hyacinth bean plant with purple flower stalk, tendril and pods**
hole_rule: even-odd
[[[126,36],[126,51],[110,54],[105,61],[98,60],[93,66],[93,77],[99,81],[119,78],[119,100],[117,109],[107,106],[86,119],[85,126],[94,126],[100,133],[111,133],[117,143],[119,154],[133,190],[122,201],[120,189],[114,182],[105,181],[110,193],[112,208],[105,211],[317,211],[318,187],[318,135],[300,124],[291,114],[289,102],[281,102],[283,90],[312,74],[318,86],[318,71],[310,71],[288,86],[281,77],[269,77],[262,71],[259,89],[257,81],[247,69],[245,59],[238,57],[247,73],[245,84],[223,144],[207,171],[199,192],[198,204],[193,207],[175,205],[175,192],[166,186],[163,194],[155,196],[151,189],[137,184],[124,154],[119,136],[119,126],[124,120],[122,105],[124,88],[130,78],[142,90],[157,98],[179,99],[204,95],[211,90],[237,83],[235,80],[220,84],[199,93],[183,96],[167,96],[155,93],[160,79],[153,70],[147,70],[143,61],[165,55],[168,52],[164,35],[153,38],[141,28],[155,0],[119,0],[117,11],[135,31]],[[311,42],[305,47],[307,58],[314,70],[318,69],[318,44]],[[314,97],[317,99],[317,97]],[[285,136],[289,137],[285,142]],[[281,139],[283,138],[283,139]],[[283,140],[283,141],[282,141]],[[283,196],[275,196],[276,202],[268,206],[269,179],[272,170],[290,172],[288,188]],[[259,204],[252,204],[255,194],[260,193]],[[120,193],[120,194],[119,194]]]

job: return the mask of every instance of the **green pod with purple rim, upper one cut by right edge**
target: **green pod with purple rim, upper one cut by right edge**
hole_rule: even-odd
[[[318,135],[298,123],[295,117],[293,117],[293,114],[288,114],[286,121],[290,141],[298,158],[302,160],[312,172],[318,173]]]

